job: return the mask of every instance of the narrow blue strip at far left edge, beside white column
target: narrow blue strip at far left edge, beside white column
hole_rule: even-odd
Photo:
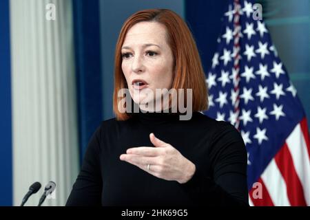
[[[0,1],[0,206],[12,206],[12,115],[9,0]]]

